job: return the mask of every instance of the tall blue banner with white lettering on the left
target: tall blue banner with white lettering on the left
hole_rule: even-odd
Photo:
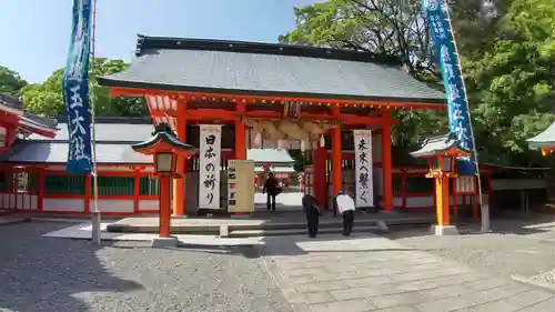
[[[91,172],[91,114],[89,112],[90,0],[73,0],[73,23],[63,71],[63,102],[68,115],[69,150],[65,170]]]

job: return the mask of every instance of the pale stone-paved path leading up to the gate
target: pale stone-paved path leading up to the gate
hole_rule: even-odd
[[[554,292],[380,236],[269,238],[265,263],[296,312],[554,311]]]

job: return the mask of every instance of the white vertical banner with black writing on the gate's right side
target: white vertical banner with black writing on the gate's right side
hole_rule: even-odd
[[[356,207],[374,205],[372,178],[372,131],[353,130],[354,165],[356,179]]]

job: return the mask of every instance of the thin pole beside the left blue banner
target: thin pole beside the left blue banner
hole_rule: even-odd
[[[91,32],[91,72],[94,74],[94,34],[95,34],[95,27],[97,27],[97,0],[92,0],[92,32]],[[95,80],[94,80],[95,81]],[[97,97],[94,93],[94,83],[90,88],[90,103],[91,103],[91,134],[92,134],[92,181],[93,181],[93,201],[92,201],[92,211],[91,211],[91,224],[92,224],[92,242],[94,244],[101,244],[102,243],[102,232],[100,229],[100,223],[101,223],[101,214],[100,210],[98,207],[98,200],[99,200],[99,177],[98,177],[98,162],[97,162],[97,129],[95,129],[95,119],[97,119],[97,111],[95,111],[95,102],[97,102]]]

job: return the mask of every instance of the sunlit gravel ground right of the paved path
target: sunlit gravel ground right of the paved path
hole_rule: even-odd
[[[492,228],[495,231],[495,223]],[[533,232],[516,231],[516,225],[514,229],[512,232],[467,233],[458,236],[435,236],[428,234],[428,229],[412,229],[385,236],[405,246],[426,250],[492,275],[533,276],[555,269],[555,240],[542,239],[545,235]]]

